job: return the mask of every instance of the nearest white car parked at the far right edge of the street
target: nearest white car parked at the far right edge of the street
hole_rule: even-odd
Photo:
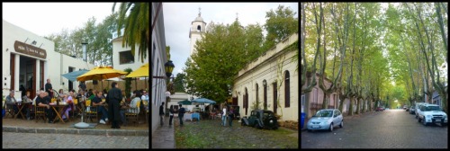
[[[423,104],[420,107],[418,121],[422,121],[425,126],[428,123],[441,123],[441,126],[446,126],[447,114],[437,104]]]

